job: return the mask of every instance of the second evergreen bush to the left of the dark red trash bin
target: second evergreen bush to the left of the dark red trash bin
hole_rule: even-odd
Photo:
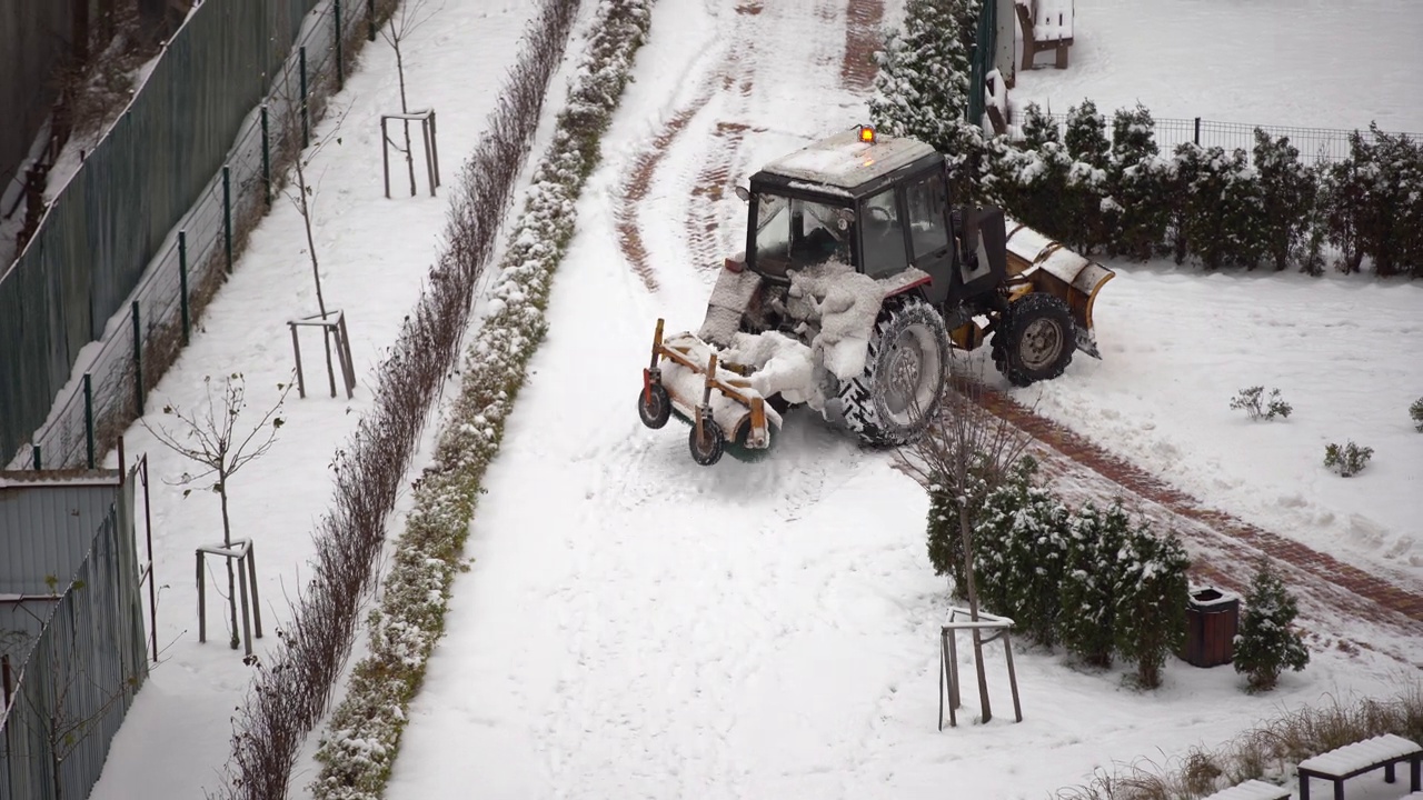
[[[1120,502],[1106,511],[1087,502],[1067,525],[1057,633],[1070,653],[1091,666],[1111,666],[1123,577],[1120,554],[1130,534]]]

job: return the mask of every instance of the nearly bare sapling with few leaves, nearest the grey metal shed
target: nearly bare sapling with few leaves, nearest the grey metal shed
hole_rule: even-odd
[[[208,409],[201,416],[192,410],[184,411],[174,404],[164,406],[164,414],[178,419],[178,433],[162,426],[154,428],[147,420],[142,424],[164,447],[202,467],[202,471],[184,473],[172,483],[174,485],[191,485],[211,480],[206,488],[215,491],[222,504],[222,544],[232,547],[232,521],[228,515],[229,481],[238,470],[265,456],[276,443],[276,431],[283,423],[277,413],[282,410],[287,393],[292,391],[292,381],[276,384],[280,393],[276,403],[246,433],[238,427],[242,411],[248,407],[246,381],[242,373],[225,377],[218,394],[212,389],[212,376],[203,376],[202,383],[208,396]],[[192,494],[191,488],[184,491],[184,497],[189,494]],[[236,575],[232,569],[232,559],[228,558],[226,562],[229,629],[232,631],[232,649],[238,649],[240,642],[238,641]]]

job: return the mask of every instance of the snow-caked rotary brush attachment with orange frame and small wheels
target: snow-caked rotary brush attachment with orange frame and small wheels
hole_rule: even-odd
[[[652,337],[652,363],[642,372],[638,416],[660,428],[676,413],[692,424],[692,460],[710,467],[729,448],[766,450],[781,417],[733,363],[719,363],[717,350],[692,333],[663,339],[663,320]]]

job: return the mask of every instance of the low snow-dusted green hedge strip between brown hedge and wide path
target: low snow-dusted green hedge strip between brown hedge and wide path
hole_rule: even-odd
[[[322,739],[322,772],[312,784],[317,799],[374,800],[390,779],[406,709],[444,632],[481,481],[548,329],[549,290],[573,235],[573,205],[598,164],[599,140],[647,36],[650,6],[652,0],[601,0],[566,110],[509,233],[491,313],[468,349],[460,397],[434,463],[417,483],[384,596],[370,615],[370,655],[356,665],[350,690]]]

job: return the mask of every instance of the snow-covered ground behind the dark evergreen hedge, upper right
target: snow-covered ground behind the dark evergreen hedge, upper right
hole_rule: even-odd
[[[1423,134],[1409,0],[1077,0],[1072,67],[1023,73],[1015,104]],[[1039,56],[1050,64],[1050,56]]]

